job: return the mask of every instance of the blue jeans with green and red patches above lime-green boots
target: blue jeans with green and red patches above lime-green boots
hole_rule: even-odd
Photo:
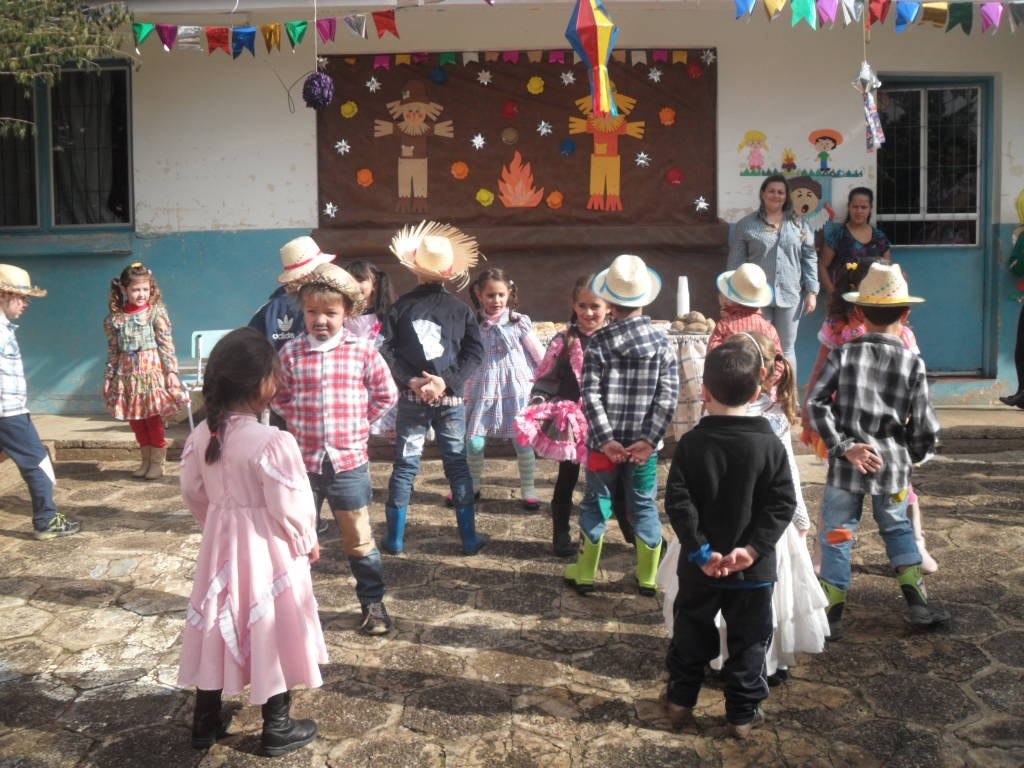
[[[633,515],[633,528],[648,547],[662,541],[657,514],[657,454],[644,464],[617,464],[607,472],[587,470],[587,495],[580,505],[580,527],[591,543],[604,536],[611,518],[615,483],[623,483],[626,507]]]

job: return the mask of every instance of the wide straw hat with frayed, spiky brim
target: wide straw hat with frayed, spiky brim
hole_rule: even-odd
[[[447,281],[462,290],[481,254],[476,240],[451,224],[421,221],[391,239],[391,253],[401,265],[433,281]]]

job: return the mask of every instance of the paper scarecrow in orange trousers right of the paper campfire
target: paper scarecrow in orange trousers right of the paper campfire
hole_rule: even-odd
[[[621,211],[622,159],[618,155],[618,137],[643,138],[646,123],[643,120],[629,122],[626,118],[637,100],[623,95],[611,85],[611,97],[617,108],[617,115],[598,117],[594,114],[594,99],[590,96],[578,98],[577,108],[583,118],[569,118],[569,134],[590,133],[594,136],[594,152],[590,156],[590,199],[588,211]]]

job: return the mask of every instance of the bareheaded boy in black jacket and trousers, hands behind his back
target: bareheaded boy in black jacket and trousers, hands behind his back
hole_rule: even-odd
[[[722,668],[725,716],[737,738],[764,720],[759,705],[768,697],[775,544],[796,509],[785,449],[766,419],[746,416],[762,374],[750,344],[726,342],[708,354],[710,416],[676,446],[665,492],[682,547],[667,662],[669,718],[677,727],[693,718],[705,667],[719,653],[721,610],[729,650]]]

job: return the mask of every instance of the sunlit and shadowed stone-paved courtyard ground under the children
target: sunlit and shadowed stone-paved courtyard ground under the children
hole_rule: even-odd
[[[84,456],[57,465],[78,537],[33,541],[23,486],[10,473],[0,484],[0,768],[267,765],[255,755],[258,708],[241,700],[236,736],[208,753],[188,745],[191,695],[174,680],[200,537],[177,477],[137,481],[129,462]],[[714,687],[694,730],[668,729],[660,599],[636,594],[617,532],[598,591],[579,597],[550,554],[550,519],[516,507],[514,461],[496,460],[479,514],[494,544],[462,557],[437,504],[439,464],[426,462],[409,555],[385,560],[391,636],[355,633],[347,565],[336,535],[325,538],[314,572],[331,660],[325,686],[294,708],[322,737],[273,765],[1024,765],[1022,458],[943,456],[915,477],[941,564],[932,595],[954,615],[939,631],[904,623],[865,526],[846,639],[772,691],[748,742],[726,737]],[[378,489],[388,470],[374,464]],[[823,473],[805,475],[816,509]],[[542,464],[542,487],[552,480]]]

